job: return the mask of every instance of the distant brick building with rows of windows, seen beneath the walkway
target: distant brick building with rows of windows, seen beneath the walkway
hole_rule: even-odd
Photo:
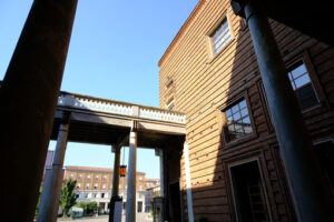
[[[87,168],[67,165],[65,168],[63,179],[76,180],[77,202],[96,201],[102,212],[109,209],[112,189],[112,169]],[[137,172],[136,175],[136,209],[137,212],[145,210],[145,173]],[[124,205],[127,202],[127,176],[119,180],[119,195],[122,196]]]

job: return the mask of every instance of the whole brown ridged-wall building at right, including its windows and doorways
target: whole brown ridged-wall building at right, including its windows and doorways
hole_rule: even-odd
[[[334,49],[269,23],[333,196]],[[191,206],[209,221],[296,221],[249,29],[230,1],[199,0],[158,65],[160,107],[186,113],[189,150],[179,160],[164,153],[180,163],[180,178],[165,180],[167,211],[185,221]]]

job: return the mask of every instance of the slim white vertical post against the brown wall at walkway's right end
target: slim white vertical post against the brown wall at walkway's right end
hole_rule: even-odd
[[[189,151],[188,151],[187,142],[185,142],[184,144],[184,153],[185,153],[186,185],[187,185],[188,221],[194,222],[190,164],[189,164]]]

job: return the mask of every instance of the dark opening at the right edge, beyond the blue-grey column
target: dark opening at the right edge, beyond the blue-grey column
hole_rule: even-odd
[[[333,140],[328,140],[317,143],[314,147],[322,170],[325,174],[327,183],[330,184],[332,198],[334,198],[334,142]]]

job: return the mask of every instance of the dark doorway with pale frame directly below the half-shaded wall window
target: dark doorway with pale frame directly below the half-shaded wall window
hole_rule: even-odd
[[[238,221],[271,221],[258,162],[230,167],[230,176]]]

